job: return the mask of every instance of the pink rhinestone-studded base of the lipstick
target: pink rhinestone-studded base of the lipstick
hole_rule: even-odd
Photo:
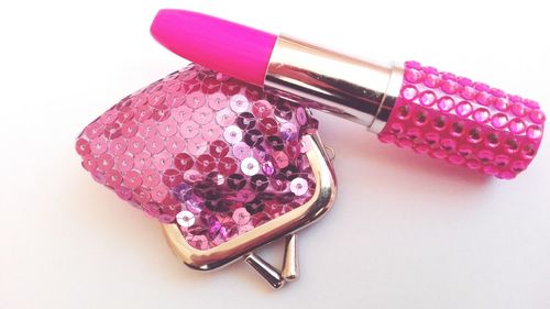
[[[532,100],[409,62],[400,96],[378,136],[510,179],[535,157],[544,119]]]

